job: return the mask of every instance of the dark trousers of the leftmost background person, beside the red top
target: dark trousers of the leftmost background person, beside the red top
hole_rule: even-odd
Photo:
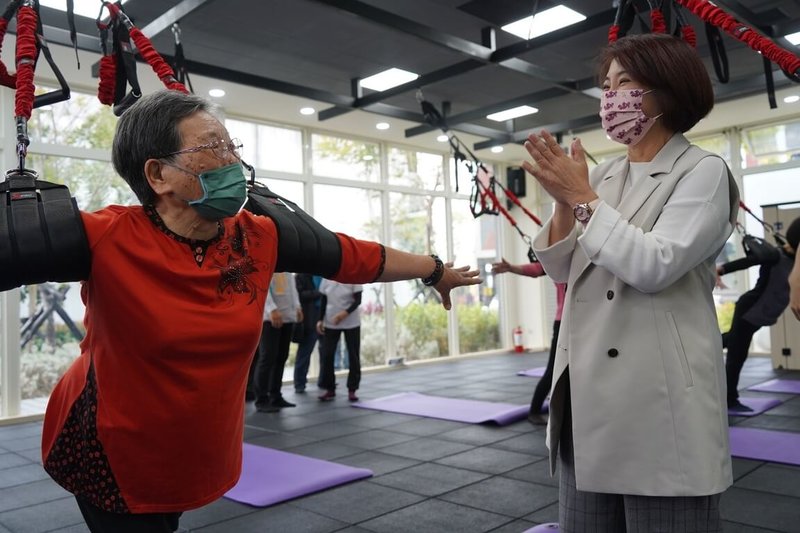
[[[281,397],[283,367],[289,358],[293,330],[293,322],[284,323],[279,328],[272,327],[272,322],[264,322],[261,340],[258,341],[258,363],[253,376],[256,405],[266,405],[269,400]]]

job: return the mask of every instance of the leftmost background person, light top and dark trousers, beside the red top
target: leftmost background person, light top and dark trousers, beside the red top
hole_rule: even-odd
[[[256,410],[265,413],[294,407],[281,394],[283,368],[289,359],[289,344],[295,325],[303,321],[303,311],[294,275],[276,272],[272,275],[264,306],[264,325],[258,343],[255,371]]]

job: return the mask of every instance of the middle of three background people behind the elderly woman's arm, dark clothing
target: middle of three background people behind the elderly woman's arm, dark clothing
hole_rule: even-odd
[[[322,283],[320,276],[311,274],[295,275],[297,293],[300,296],[300,306],[303,309],[303,322],[295,328],[294,341],[297,342],[297,355],[294,360],[294,391],[298,394],[306,391],[308,383],[308,366],[311,363],[311,354],[317,344],[317,320],[320,315],[319,285]],[[322,366],[320,358],[320,367]]]

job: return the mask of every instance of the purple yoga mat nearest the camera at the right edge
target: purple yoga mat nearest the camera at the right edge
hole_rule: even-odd
[[[730,432],[734,457],[800,465],[800,433],[735,426]]]

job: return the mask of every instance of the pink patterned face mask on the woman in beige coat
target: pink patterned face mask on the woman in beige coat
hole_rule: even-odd
[[[633,146],[642,140],[655,120],[642,111],[644,95],[652,92],[643,89],[603,91],[600,99],[600,119],[611,140]]]

